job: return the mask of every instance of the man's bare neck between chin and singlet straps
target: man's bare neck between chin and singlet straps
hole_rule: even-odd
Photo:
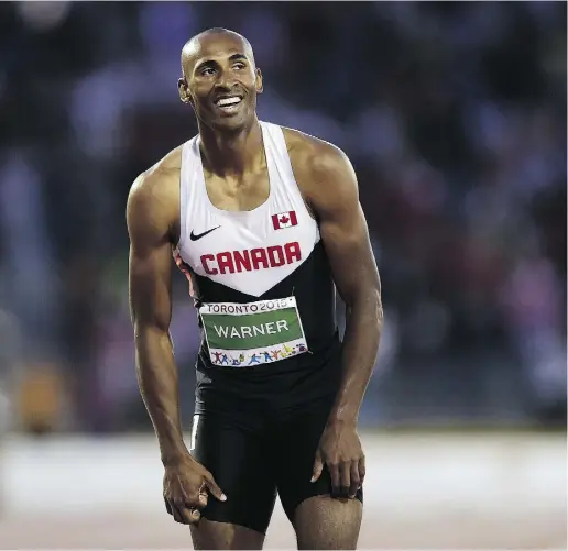
[[[201,155],[207,169],[219,176],[242,175],[262,156],[259,119],[236,132],[218,132],[199,123]]]

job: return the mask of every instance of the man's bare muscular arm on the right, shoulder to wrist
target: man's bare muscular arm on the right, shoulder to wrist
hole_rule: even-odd
[[[342,378],[328,422],[354,425],[381,338],[381,282],[351,163],[329,144],[319,147],[324,151],[314,162],[308,200],[319,220],[334,280],[347,307]]]

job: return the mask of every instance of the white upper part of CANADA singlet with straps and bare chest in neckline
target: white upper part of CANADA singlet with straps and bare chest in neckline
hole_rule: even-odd
[[[181,178],[183,262],[198,276],[256,297],[292,274],[319,241],[281,132],[272,130],[264,135],[266,166],[248,174],[244,185],[207,174],[196,142],[184,150]]]

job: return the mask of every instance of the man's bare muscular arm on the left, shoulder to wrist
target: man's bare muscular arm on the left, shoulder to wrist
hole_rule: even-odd
[[[182,434],[172,318],[171,202],[155,185],[160,175],[141,176],[127,206],[130,235],[129,293],[140,392],[156,432],[162,461],[187,453]]]

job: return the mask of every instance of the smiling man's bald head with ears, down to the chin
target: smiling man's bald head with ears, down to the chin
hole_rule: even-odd
[[[197,35],[184,46],[182,67],[179,97],[203,124],[239,131],[252,122],[262,75],[241,35],[225,30]]]

